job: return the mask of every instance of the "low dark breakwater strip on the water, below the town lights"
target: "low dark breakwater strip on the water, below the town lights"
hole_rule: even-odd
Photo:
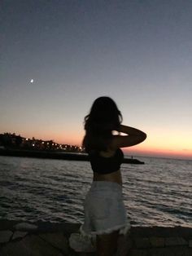
[[[7,157],[33,157],[33,158],[47,158],[69,161],[89,161],[89,156],[86,153],[79,152],[49,152],[49,151],[32,151],[32,150],[18,150],[18,149],[0,149],[0,156]],[[123,163],[143,165],[143,161],[133,158],[124,158]]]

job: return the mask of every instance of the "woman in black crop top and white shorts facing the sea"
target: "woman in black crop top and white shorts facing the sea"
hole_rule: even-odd
[[[123,126],[121,121],[116,103],[105,96],[94,101],[89,115],[85,117],[83,146],[89,154],[94,178],[85,197],[85,223],[81,226],[81,233],[97,236],[99,256],[113,255],[119,234],[130,227],[122,198],[120,164],[124,155],[120,148],[146,139],[144,132]]]

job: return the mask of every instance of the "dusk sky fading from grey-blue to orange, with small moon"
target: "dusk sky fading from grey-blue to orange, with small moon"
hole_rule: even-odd
[[[191,14],[190,0],[2,0],[0,133],[81,145],[108,95],[148,136],[125,152],[192,159]]]

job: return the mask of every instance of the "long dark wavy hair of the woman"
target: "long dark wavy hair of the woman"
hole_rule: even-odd
[[[91,150],[107,150],[112,130],[119,130],[123,117],[113,99],[103,96],[94,100],[89,115],[85,116],[83,147]]]

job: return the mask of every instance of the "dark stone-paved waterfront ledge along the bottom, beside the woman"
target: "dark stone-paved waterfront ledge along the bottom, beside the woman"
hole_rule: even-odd
[[[73,223],[20,223],[0,219],[1,256],[90,256],[76,253],[69,237],[78,232]],[[192,228],[132,227],[121,236],[118,256],[191,256]]]

